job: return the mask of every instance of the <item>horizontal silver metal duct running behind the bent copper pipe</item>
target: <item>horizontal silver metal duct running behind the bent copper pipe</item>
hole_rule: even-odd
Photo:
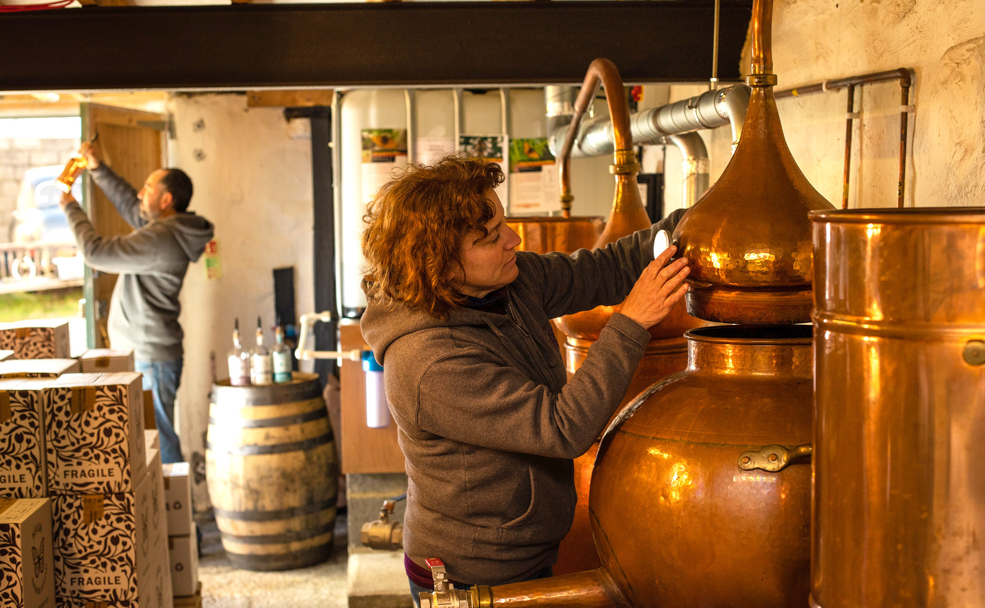
[[[632,141],[636,144],[658,142],[671,135],[731,124],[732,149],[735,150],[746,119],[749,92],[746,85],[733,85],[631,114],[629,123]],[[566,133],[566,127],[556,127],[549,131],[551,150],[556,155],[564,143]],[[612,122],[608,116],[600,116],[582,122],[571,150],[571,158],[612,154],[613,150]]]

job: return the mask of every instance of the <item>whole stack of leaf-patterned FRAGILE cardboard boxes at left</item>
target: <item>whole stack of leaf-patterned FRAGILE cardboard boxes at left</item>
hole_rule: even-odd
[[[0,325],[0,346],[46,356],[16,363],[53,375],[64,333],[56,323]],[[172,605],[164,475],[160,451],[145,445],[156,432],[145,434],[132,362],[130,353],[99,353],[88,363],[103,372],[0,379],[5,608]]]

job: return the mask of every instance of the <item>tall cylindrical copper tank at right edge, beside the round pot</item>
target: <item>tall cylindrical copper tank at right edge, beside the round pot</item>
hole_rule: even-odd
[[[985,208],[811,219],[811,605],[985,606]]]

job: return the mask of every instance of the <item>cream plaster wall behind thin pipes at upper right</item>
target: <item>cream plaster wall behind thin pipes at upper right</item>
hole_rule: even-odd
[[[906,206],[985,204],[985,2],[776,0],[773,63],[777,89],[912,68],[916,111],[909,120]],[[749,71],[748,45],[742,69]],[[846,93],[784,99],[777,106],[798,165],[840,205]],[[852,136],[849,207],[893,207],[898,86],[856,88],[856,110],[861,119]],[[728,145],[717,132],[711,139],[713,181]],[[668,159],[668,167],[673,164]]]

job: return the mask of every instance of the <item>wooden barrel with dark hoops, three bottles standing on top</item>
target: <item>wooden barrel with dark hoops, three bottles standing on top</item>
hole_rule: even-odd
[[[209,497],[237,568],[291,570],[331,556],[339,464],[313,373],[268,386],[212,387]]]

